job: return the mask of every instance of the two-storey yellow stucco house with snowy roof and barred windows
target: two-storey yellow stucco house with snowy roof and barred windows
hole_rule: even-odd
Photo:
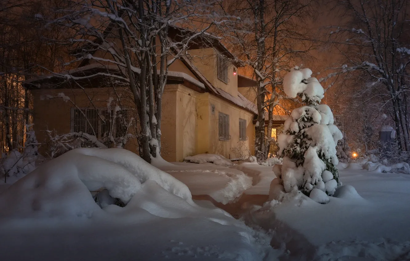
[[[249,100],[252,95],[245,90],[251,90],[256,82],[238,75],[240,65],[227,59],[233,55],[218,40],[211,40],[192,44],[187,51],[192,58],[177,59],[169,67],[161,127],[162,157],[167,161],[182,161],[199,153],[233,159],[240,157],[238,149],[254,153],[253,120],[257,111]],[[117,88],[114,93],[115,83],[107,79],[106,72],[115,74],[116,67],[83,60],[69,72],[39,76],[24,83],[34,97],[34,130],[39,142],[48,143],[46,130],[59,134],[88,133],[101,138],[110,128],[103,120],[112,112],[107,110],[109,97],[126,100],[130,92],[128,88]],[[131,101],[124,104],[132,108]],[[131,117],[122,107],[120,113],[122,117]],[[114,125],[114,137],[121,137],[124,131],[135,133]],[[137,140],[130,138],[125,148],[138,153]],[[46,150],[43,145],[41,151]]]

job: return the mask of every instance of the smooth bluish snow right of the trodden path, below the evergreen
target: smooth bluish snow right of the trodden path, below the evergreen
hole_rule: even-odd
[[[289,260],[410,260],[410,175],[348,168],[340,177],[326,205],[300,195],[244,219],[273,229],[272,245]]]

